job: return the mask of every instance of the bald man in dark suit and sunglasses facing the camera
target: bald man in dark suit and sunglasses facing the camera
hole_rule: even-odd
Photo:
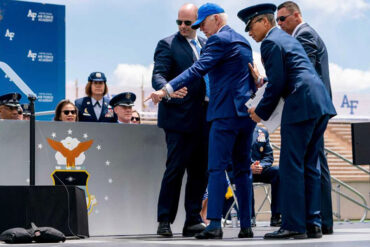
[[[205,39],[197,37],[196,31],[191,28],[197,19],[197,10],[193,4],[183,5],[176,20],[179,32],[158,42],[152,77],[155,90],[161,89],[198,59],[196,45],[204,46]],[[184,98],[172,97],[159,104],[158,126],[163,128],[167,143],[166,171],[162,179],[157,216],[157,234],[162,236],[172,236],[170,224],[176,217],[185,170],[186,220],[183,236],[194,236],[205,228],[200,218],[202,197],[207,187],[208,131],[205,116],[208,102],[205,88],[203,78],[194,79],[194,83],[187,87]],[[186,88],[182,90],[177,93],[185,94]]]

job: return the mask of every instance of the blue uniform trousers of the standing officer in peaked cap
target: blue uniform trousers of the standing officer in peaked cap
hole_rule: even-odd
[[[318,156],[329,116],[282,124],[279,162],[282,228],[306,232],[321,226]]]

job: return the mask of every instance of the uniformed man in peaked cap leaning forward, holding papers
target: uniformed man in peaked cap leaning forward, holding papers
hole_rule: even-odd
[[[268,78],[263,99],[251,108],[251,118],[268,120],[281,97],[280,188],[282,225],[266,239],[320,238],[320,140],[336,115],[330,96],[302,45],[276,27],[273,4],[245,8],[238,17],[246,31],[261,42]]]

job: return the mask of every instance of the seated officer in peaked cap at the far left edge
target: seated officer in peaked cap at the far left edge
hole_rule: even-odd
[[[8,93],[0,96],[0,119],[18,120],[19,93]]]

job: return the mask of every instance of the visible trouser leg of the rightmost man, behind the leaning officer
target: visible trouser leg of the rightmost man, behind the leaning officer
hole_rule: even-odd
[[[324,149],[324,137],[320,140],[319,162],[321,169],[321,220],[325,227],[333,227],[333,205],[331,200],[331,179]]]

